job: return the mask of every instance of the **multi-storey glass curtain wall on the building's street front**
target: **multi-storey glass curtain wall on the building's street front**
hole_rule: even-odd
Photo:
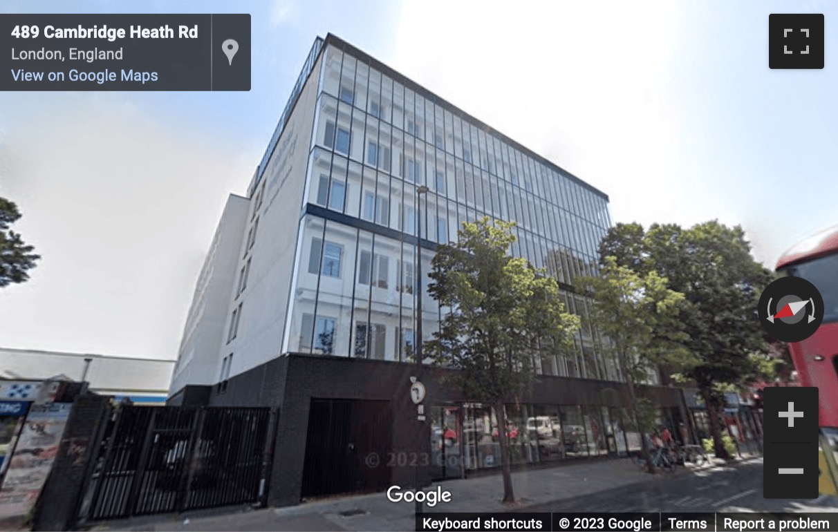
[[[560,283],[596,271],[610,226],[604,194],[374,59],[327,43],[318,83],[283,352],[409,360],[417,247],[427,287],[435,245],[483,216],[515,220],[512,253]],[[422,185],[428,192],[417,194]],[[448,309],[422,297],[427,340]],[[585,298],[562,297],[587,312]],[[538,361],[539,372],[618,380],[595,333],[576,343]]]

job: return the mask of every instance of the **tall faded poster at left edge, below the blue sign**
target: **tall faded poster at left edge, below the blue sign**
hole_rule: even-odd
[[[32,405],[0,487],[0,519],[22,518],[38,501],[58,454],[70,404]]]

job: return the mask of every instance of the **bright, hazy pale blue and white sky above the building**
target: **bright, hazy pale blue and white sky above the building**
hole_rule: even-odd
[[[0,93],[0,196],[43,256],[0,346],[175,359],[227,195],[333,33],[609,195],[614,222],[742,225],[773,266],[838,223],[838,4],[5,2],[251,13],[249,92]],[[768,14],[825,13],[825,69],[769,70]]]

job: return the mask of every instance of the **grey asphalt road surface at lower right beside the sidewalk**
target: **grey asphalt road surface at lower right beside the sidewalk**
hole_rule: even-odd
[[[527,512],[823,512],[838,511],[835,501],[789,501],[763,498],[763,460],[737,467],[709,467],[676,477],[660,475],[653,483],[615,488]]]

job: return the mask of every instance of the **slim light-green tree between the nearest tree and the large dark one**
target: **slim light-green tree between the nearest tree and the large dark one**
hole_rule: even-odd
[[[685,336],[680,333],[677,318],[684,295],[668,289],[666,284],[656,271],[641,276],[618,266],[613,256],[604,258],[599,276],[580,277],[574,282],[574,286],[587,287],[592,293],[593,305],[587,319],[608,338],[602,346],[603,354],[612,358],[623,374],[629,415],[641,435],[649,473],[654,473],[654,467],[644,434],[650,421],[640,406],[643,398],[638,396],[636,387],[662,364],[686,368],[695,363],[680,346]]]

